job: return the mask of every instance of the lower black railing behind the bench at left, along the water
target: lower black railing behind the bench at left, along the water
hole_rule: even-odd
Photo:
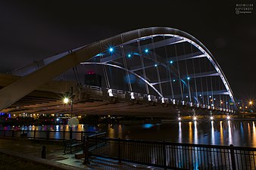
[[[33,138],[45,140],[76,139],[83,141],[83,137],[99,134],[101,131],[55,131],[55,130],[0,130],[0,136],[11,138]],[[105,132],[104,132],[105,133]],[[105,133],[106,134],[106,133]],[[106,136],[105,136],[106,137]]]

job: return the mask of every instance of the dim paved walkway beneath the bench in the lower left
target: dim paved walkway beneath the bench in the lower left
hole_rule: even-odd
[[[42,159],[42,146],[46,147],[46,159]],[[62,141],[32,140],[27,138],[0,138],[0,153],[17,156],[20,159],[51,165],[61,169],[162,169],[128,162],[118,163],[112,159],[90,157],[83,165],[83,158],[76,159],[75,153],[64,154]],[[82,151],[76,152],[82,153]]]

